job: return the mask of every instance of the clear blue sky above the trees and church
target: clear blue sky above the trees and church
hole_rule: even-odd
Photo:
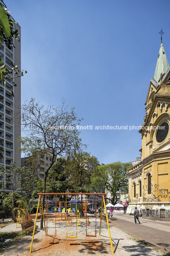
[[[101,163],[140,156],[140,126],[163,27],[170,63],[169,0],[5,0],[21,26],[21,101],[75,107]],[[128,130],[96,130],[95,126]]]

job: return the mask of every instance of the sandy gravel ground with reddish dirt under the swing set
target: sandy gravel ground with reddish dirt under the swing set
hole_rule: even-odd
[[[40,220],[37,224],[40,227]],[[101,235],[99,235],[100,219],[97,219],[97,236],[86,236],[86,223],[81,220],[81,225],[77,226],[78,237],[67,238],[66,222],[58,221],[56,224],[57,236],[55,237],[55,220],[48,220],[48,235],[45,235],[45,229],[38,228],[34,235],[32,253],[30,245],[32,236],[23,237],[18,243],[5,249],[1,254],[3,256],[111,256],[111,246],[107,223],[102,221]],[[95,219],[90,218],[90,225],[87,227],[87,235],[95,234]],[[19,231],[16,224],[10,224],[0,232]],[[76,221],[72,226],[68,225],[68,236],[76,235]],[[159,250],[146,245],[141,245],[135,241],[130,235],[110,225],[110,233],[112,238],[113,250],[115,256],[162,256]]]

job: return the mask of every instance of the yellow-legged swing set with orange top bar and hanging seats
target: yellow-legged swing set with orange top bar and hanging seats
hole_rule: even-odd
[[[65,205],[66,205],[66,213],[65,213],[65,216],[66,216],[66,235],[67,235],[67,238],[69,237],[78,237],[77,236],[77,226],[80,226],[80,212],[79,210],[77,210],[77,198],[76,198],[76,235],[68,235],[68,224],[69,226],[72,225],[72,219],[73,219],[73,216],[72,216],[72,211],[68,211],[67,210],[67,195],[86,195],[86,211],[85,211],[85,221],[86,221],[86,236],[89,236],[89,237],[96,237],[97,235],[97,232],[96,232],[96,225],[97,225],[97,196],[102,196],[102,203],[101,203],[101,214],[100,214],[100,231],[99,231],[99,235],[100,235],[100,232],[101,232],[101,220],[102,220],[102,216],[105,216],[106,217],[106,221],[107,221],[107,226],[108,226],[108,231],[109,231],[109,237],[110,237],[110,245],[111,245],[111,251],[112,251],[112,254],[114,254],[114,251],[113,251],[113,245],[112,245],[112,240],[111,240],[111,235],[110,235],[110,227],[109,227],[109,221],[108,221],[108,215],[107,215],[107,210],[106,210],[106,204],[105,204],[105,199],[104,199],[104,195],[106,195],[106,193],[38,193],[39,195],[39,201],[38,201],[38,206],[37,206],[37,213],[36,213],[36,217],[35,217],[35,223],[34,223],[34,230],[33,230],[33,234],[32,234],[32,240],[31,240],[31,245],[30,245],[30,253],[31,253],[31,250],[32,250],[32,244],[33,244],[33,239],[34,239],[34,234],[35,234],[35,227],[36,227],[36,222],[37,222],[37,217],[42,215],[43,217],[43,222],[44,222],[44,227],[45,227],[45,234],[46,236],[57,236],[57,211],[55,211],[55,234],[54,235],[48,235],[48,226],[47,226],[47,219],[48,219],[48,205],[46,204],[46,225],[45,225],[45,213],[44,213],[44,210],[43,210],[43,207],[42,207],[42,200],[41,200],[41,196],[45,195],[46,196],[46,202],[47,202],[47,196],[48,195],[53,195],[55,196],[55,204],[56,204],[56,209],[57,209],[57,196],[58,195],[65,195],[66,196],[66,202],[65,202]],[[95,200],[95,234],[94,235],[88,235],[88,228],[87,226],[89,226],[90,222],[89,222],[89,218],[88,218],[88,215],[87,215],[87,196],[88,195],[95,195],[96,196],[96,200]],[[103,209],[103,206],[104,206],[104,209],[105,209],[105,213],[106,214],[103,214],[102,213],[102,209]],[[41,214],[38,214],[39,213],[39,207],[41,208],[40,209],[40,213]],[[61,213],[62,214],[62,213]]]

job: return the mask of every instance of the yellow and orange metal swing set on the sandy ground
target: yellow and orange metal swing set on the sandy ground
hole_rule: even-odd
[[[39,201],[38,201],[37,213],[36,213],[35,223],[34,223],[34,230],[33,230],[32,240],[31,240],[31,245],[30,245],[30,253],[31,253],[31,250],[32,250],[32,244],[33,244],[33,239],[34,239],[34,234],[35,234],[37,216],[38,216],[38,213],[39,213],[39,206],[41,206],[41,212],[42,213],[40,215],[42,215],[42,217],[43,217],[43,222],[44,222],[44,227],[45,227],[45,234],[48,235],[48,228],[46,228],[46,225],[45,225],[44,211],[43,211],[43,207],[42,207],[42,200],[41,200],[41,196],[42,195],[45,195],[46,197],[48,195],[54,195],[55,198],[56,198],[56,208],[57,208],[57,195],[66,195],[66,214],[67,214],[67,195],[75,195],[75,196],[77,196],[77,195],[86,195],[86,196],[87,195],[95,195],[96,196],[96,208],[97,208],[97,196],[100,195],[100,196],[102,196],[102,203],[101,203],[99,235],[101,233],[101,218],[102,218],[102,216],[105,216],[106,217],[106,221],[107,221],[108,231],[109,231],[111,251],[112,251],[112,254],[114,254],[112,240],[111,240],[111,235],[110,235],[110,227],[109,227],[108,215],[107,215],[106,204],[105,204],[105,199],[104,199],[104,195],[106,195],[106,193],[38,193],[38,195],[39,195]],[[86,205],[87,205],[87,198],[86,198]],[[104,209],[105,209],[106,215],[102,213],[103,205],[104,205]],[[76,218],[76,235],[74,235],[74,236],[68,236],[68,234],[67,234],[67,222],[68,222],[68,220],[67,220],[67,215],[66,215],[66,235],[67,235],[67,237],[77,237],[77,225],[78,225],[77,200],[76,200],[76,213],[77,213],[77,218]],[[57,213],[55,212],[55,236],[57,235],[57,230],[56,230],[57,215],[56,214]],[[96,215],[96,218],[97,218],[97,215]],[[86,219],[86,236],[96,236],[96,222],[95,222],[95,235],[87,235],[87,226],[88,226],[87,223],[89,223],[89,219],[88,219],[88,216],[87,216],[87,211],[86,211],[85,219]],[[80,223],[80,215],[79,215],[79,223]],[[71,220],[69,222],[69,225],[72,225],[72,212],[71,212]],[[51,236],[53,236],[53,235],[51,235]]]

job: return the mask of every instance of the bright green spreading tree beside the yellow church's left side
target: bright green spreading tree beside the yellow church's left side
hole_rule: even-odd
[[[128,191],[128,172],[131,167],[130,163],[114,162],[99,166],[93,172],[91,177],[91,186],[97,192],[110,192],[112,204],[118,202],[117,191]]]

